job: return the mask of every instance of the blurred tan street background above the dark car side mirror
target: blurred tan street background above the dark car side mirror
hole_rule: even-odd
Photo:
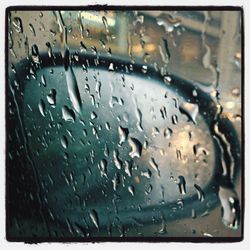
[[[188,80],[215,86],[221,104],[240,133],[240,11],[61,11],[68,43],[80,52],[122,58],[158,67]],[[40,52],[61,51],[61,33],[53,11],[12,12],[22,34],[9,31],[9,60],[15,63],[39,44]],[[18,23],[18,20],[16,20]],[[18,24],[17,24],[18,25]],[[105,28],[106,27],[106,28]],[[15,28],[15,25],[14,27]],[[166,56],[167,50],[170,54]]]

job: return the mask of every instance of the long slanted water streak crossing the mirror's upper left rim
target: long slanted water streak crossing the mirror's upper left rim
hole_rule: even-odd
[[[69,50],[65,50],[64,68],[65,68],[65,75],[66,75],[66,82],[67,82],[67,87],[68,87],[69,99],[72,103],[74,110],[77,113],[80,113],[81,107],[82,107],[81,97],[80,97],[80,92],[78,89],[75,74],[74,74],[73,69],[70,65]]]

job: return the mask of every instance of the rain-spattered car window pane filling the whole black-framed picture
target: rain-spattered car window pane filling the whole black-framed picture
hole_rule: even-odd
[[[10,10],[8,238],[240,239],[240,22]]]

